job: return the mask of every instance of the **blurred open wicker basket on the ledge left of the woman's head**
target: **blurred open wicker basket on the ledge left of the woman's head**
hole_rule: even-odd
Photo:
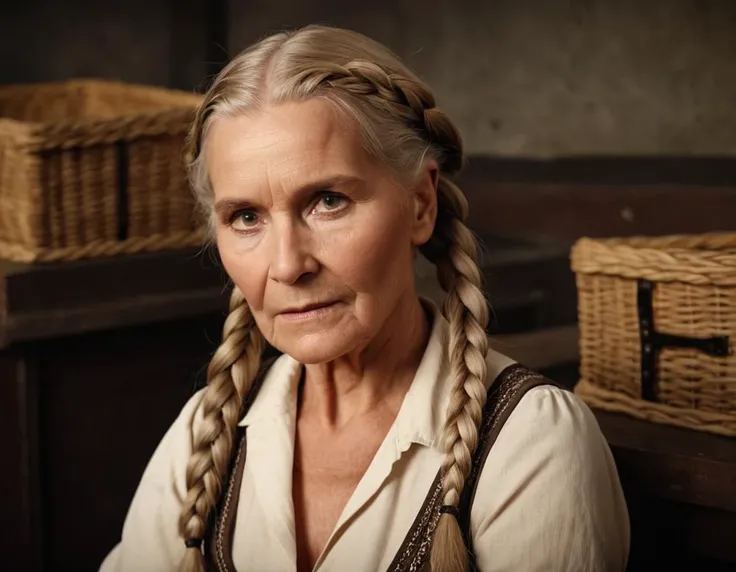
[[[201,244],[182,150],[199,96],[111,81],[0,88],[0,258]]]

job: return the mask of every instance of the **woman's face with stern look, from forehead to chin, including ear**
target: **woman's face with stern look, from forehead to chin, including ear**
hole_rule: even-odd
[[[363,351],[415,301],[434,162],[402,187],[322,99],[218,119],[206,160],[220,256],[272,345],[302,363]]]

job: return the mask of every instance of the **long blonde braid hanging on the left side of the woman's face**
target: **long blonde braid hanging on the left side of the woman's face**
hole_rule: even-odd
[[[182,572],[205,571],[202,540],[225,485],[241,405],[260,367],[263,345],[263,336],[236,287],[222,343],[207,370],[203,419],[187,464],[187,496],[179,517],[179,533],[187,544]]]

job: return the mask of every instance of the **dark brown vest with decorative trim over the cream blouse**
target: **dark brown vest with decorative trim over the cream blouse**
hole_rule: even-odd
[[[272,363],[272,362],[271,362]],[[267,366],[261,369],[251,395],[257,393],[263,382]],[[514,364],[504,369],[488,391],[488,399],[483,408],[483,420],[479,431],[478,448],[473,455],[472,468],[460,498],[459,523],[470,558],[470,570],[477,570],[473,553],[473,539],[470,533],[470,509],[475,498],[478,475],[483,469],[488,453],[498,434],[516,405],[527,391],[539,385],[555,385],[544,376],[525,367]],[[252,399],[252,398],[251,398]],[[249,403],[244,404],[247,409]],[[245,430],[241,431],[225,494],[216,514],[210,520],[204,545],[207,569],[217,572],[236,572],[232,561],[232,539],[235,531],[235,515],[238,511],[240,485],[245,467],[247,441]],[[432,487],[414,520],[414,524],[404,538],[399,551],[387,572],[429,572],[429,552],[434,529],[440,516],[442,504],[442,480],[437,473]]]

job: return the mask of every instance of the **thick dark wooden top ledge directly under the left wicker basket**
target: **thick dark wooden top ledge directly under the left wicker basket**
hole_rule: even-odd
[[[197,250],[0,263],[0,347],[226,308],[227,278]]]

